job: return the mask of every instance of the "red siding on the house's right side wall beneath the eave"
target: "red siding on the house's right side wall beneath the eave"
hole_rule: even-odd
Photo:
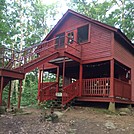
[[[114,43],[114,58],[131,68],[132,101],[134,101],[134,55],[125,49],[119,42]]]

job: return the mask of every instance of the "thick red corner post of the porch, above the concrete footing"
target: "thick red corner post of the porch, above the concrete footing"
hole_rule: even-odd
[[[114,101],[114,59],[110,60],[110,95]]]

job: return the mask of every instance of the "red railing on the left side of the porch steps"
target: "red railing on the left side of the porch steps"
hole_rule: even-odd
[[[57,82],[54,82],[44,88],[40,89],[38,99],[40,102],[56,99]]]

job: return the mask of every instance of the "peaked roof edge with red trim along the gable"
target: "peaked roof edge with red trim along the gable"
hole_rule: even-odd
[[[124,43],[127,43],[128,44],[128,48],[130,48],[130,51],[132,51],[134,53],[134,44],[125,36],[124,33],[121,32],[120,29],[117,29],[113,26],[110,26],[110,25],[107,25],[105,23],[102,23],[102,22],[99,22],[97,20],[94,20],[92,18],[89,18],[85,15],[82,15],[80,13],[77,13],[71,9],[68,9],[68,11],[63,15],[63,17],[58,21],[58,23],[54,26],[54,28],[49,32],[49,34],[45,37],[45,40],[48,40],[50,38],[50,36],[58,29],[58,27],[62,24],[62,22],[67,18],[68,15],[75,15],[77,17],[80,17],[84,20],[87,20],[88,22],[91,22],[91,23],[94,23],[96,25],[99,25],[101,27],[104,27],[110,31],[113,31],[114,32],[114,35],[117,36],[117,38],[120,38],[120,40],[123,40]]]

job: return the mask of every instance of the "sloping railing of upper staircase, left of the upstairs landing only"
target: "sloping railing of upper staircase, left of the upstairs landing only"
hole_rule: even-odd
[[[32,45],[22,51],[2,47],[0,48],[0,67],[7,69],[14,69],[20,67],[30,61],[39,57],[39,53],[55,48],[55,40],[53,38],[49,41],[44,41],[39,44]]]

